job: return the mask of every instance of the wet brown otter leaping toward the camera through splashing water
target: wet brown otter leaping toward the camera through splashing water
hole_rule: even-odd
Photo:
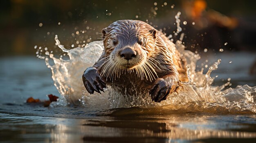
[[[160,102],[187,80],[186,59],[146,22],[116,21],[102,29],[102,39],[101,57],[82,76],[90,94],[101,94],[110,85],[130,96],[146,91],[152,101]]]

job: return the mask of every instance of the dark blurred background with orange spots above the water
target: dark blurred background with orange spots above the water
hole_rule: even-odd
[[[178,11],[187,49],[255,51],[255,5],[253,0],[1,0],[0,56],[35,55],[35,45],[54,49],[55,35],[66,48],[83,47],[121,19],[148,22],[175,41]]]

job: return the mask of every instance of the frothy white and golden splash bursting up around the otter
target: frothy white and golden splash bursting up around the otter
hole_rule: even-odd
[[[177,16],[178,15],[178,16]],[[176,21],[180,13],[176,15]],[[181,31],[180,26],[177,32]],[[212,87],[214,78],[211,72],[217,70],[221,60],[218,59],[206,74],[196,71],[196,62],[200,55],[185,50],[182,44],[184,33],[181,34],[180,40],[177,40],[175,46],[181,54],[187,59],[189,82],[182,82],[177,92],[168,96],[168,99],[161,103],[155,103],[151,100],[150,95],[145,92],[136,92],[133,96],[122,95],[108,86],[103,94],[94,93],[90,95],[83,86],[81,76],[83,71],[92,66],[100,57],[103,51],[103,42],[95,41],[87,44],[83,48],[73,48],[67,50],[61,45],[56,35],[56,45],[69,56],[68,60],[55,58],[51,53],[45,58],[48,68],[52,70],[52,79],[54,85],[61,94],[58,102],[51,106],[67,106],[72,103],[75,105],[85,106],[86,108],[128,108],[141,106],[143,108],[159,108],[162,110],[179,112],[214,112],[214,113],[256,113],[256,86],[248,85],[237,86],[223,90],[230,84],[230,79],[226,84]],[[46,50],[47,51],[47,50]],[[40,50],[42,53],[42,51]],[[49,52],[46,52],[49,53]],[[51,66],[49,59],[54,61]]]

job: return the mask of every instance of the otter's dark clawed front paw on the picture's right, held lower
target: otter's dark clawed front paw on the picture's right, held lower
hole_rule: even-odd
[[[169,93],[172,93],[175,89],[174,83],[171,80],[158,78],[155,80],[153,86],[149,90],[152,101],[160,102],[165,100]]]

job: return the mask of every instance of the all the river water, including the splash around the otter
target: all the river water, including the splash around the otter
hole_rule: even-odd
[[[35,47],[41,59],[2,58],[1,141],[254,142],[256,77],[247,73],[255,54],[200,56],[184,49],[183,36],[175,46],[188,60],[191,80],[161,103],[148,93],[121,95],[111,86],[101,95],[88,94],[81,75],[101,55],[101,41],[67,50],[56,36],[63,59],[42,47]],[[51,93],[60,98],[49,108],[25,104],[28,97],[43,100]]]

